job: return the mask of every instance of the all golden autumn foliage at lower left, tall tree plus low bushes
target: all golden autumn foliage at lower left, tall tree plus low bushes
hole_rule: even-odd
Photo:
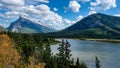
[[[0,35],[0,68],[44,68],[45,63],[35,64],[35,59],[30,57],[30,64],[21,65],[19,54],[14,42],[8,35]]]

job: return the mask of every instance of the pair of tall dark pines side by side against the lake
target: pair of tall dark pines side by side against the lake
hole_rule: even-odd
[[[64,40],[62,40],[62,43],[59,45],[60,47],[58,48],[59,53],[58,55],[58,63],[60,64],[60,66],[62,66],[61,68],[69,68],[70,65],[70,44],[69,42],[66,40],[66,42],[64,42]]]

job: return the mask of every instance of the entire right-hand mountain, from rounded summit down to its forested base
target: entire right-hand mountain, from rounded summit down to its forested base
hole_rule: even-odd
[[[101,13],[92,14],[64,30],[47,34],[47,36],[120,39],[120,17]]]

